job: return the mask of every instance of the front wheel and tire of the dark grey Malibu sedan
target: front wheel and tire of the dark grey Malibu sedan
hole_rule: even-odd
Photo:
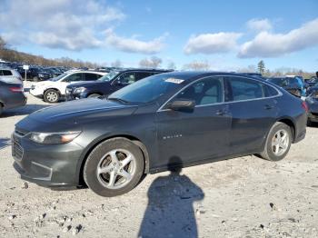
[[[88,155],[83,171],[87,186],[104,197],[128,193],[139,183],[143,174],[143,153],[125,138],[114,138],[98,144]]]

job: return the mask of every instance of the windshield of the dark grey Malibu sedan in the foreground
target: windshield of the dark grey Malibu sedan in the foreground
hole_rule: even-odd
[[[119,99],[127,103],[150,103],[164,94],[170,94],[184,86],[184,78],[172,74],[155,74],[134,84],[125,86],[108,99]]]

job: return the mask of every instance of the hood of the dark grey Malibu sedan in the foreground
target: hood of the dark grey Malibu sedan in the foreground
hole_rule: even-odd
[[[16,126],[28,131],[39,130],[39,127],[42,131],[50,131],[50,128],[56,126],[70,124],[80,126],[84,121],[94,122],[105,117],[134,114],[137,107],[106,99],[88,98],[45,107],[26,116]],[[33,124],[37,125],[32,126]]]

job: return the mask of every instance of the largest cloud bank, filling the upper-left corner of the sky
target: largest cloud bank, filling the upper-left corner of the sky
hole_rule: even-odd
[[[98,47],[100,33],[125,17],[121,10],[97,0],[3,0],[2,4],[0,25],[9,44],[30,42],[68,50]]]

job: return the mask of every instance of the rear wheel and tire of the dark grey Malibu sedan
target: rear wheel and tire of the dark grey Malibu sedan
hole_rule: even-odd
[[[279,138],[280,136],[281,138]],[[281,141],[278,142],[278,140]],[[283,160],[291,148],[292,140],[293,136],[291,127],[287,124],[275,123],[273,124],[270,133],[267,135],[263,153],[260,155],[263,157],[263,159],[270,161]]]

